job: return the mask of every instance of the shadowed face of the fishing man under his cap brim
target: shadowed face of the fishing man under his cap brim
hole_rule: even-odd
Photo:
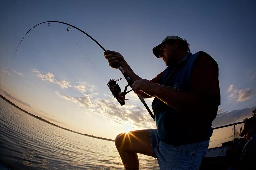
[[[159,58],[162,58],[166,64],[166,66],[171,66],[176,63],[177,52],[174,45],[170,45],[166,42],[161,48],[159,53]]]

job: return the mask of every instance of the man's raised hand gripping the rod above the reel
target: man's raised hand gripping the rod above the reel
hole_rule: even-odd
[[[123,67],[126,63],[123,56],[115,51],[108,50],[104,53],[104,56],[108,60],[108,64],[112,68],[117,68],[117,64]]]

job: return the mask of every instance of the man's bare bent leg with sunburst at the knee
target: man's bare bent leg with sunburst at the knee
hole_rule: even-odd
[[[126,170],[139,169],[137,153],[153,157],[148,130],[121,133],[115,138],[115,146]]]

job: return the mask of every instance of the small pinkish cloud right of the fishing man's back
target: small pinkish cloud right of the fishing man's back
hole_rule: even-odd
[[[228,93],[230,93],[228,95],[228,99],[229,100],[235,99],[236,102],[243,102],[251,98],[251,96],[253,96],[253,91],[251,88],[234,90],[234,85],[229,86]]]

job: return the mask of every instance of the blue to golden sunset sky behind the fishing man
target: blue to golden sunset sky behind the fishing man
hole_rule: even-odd
[[[3,0],[0,93],[24,110],[80,133],[114,139],[123,131],[156,128],[133,92],[124,106],[113,98],[106,81],[123,75],[78,30],[45,23],[33,28],[15,51],[36,24],[61,21],[121,53],[137,75],[152,79],[166,68],[152,48],[167,35],[177,35],[188,41],[191,53],[205,51],[218,63],[217,118],[226,115],[221,122],[233,123],[256,106],[255,11],[255,1]],[[118,84],[123,90],[127,82]],[[152,98],[146,102],[150,107]]]

